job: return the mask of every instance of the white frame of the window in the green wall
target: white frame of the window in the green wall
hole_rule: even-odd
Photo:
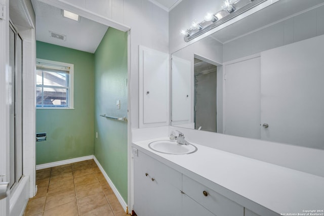
[[[69,67],[69,78],[68,78],[68,88],[67,88],[67,106],[61,107],[61,106],[37,106],[36,109],[74,109],[74,64],[65,63],[65,62],[57,62],[57,61],[51,61],[46,59],[36,59],[36,70],[38,65],[55,65],[57,67]],[[36,71],[35,71],[36,72]],[[42,79],[44,79],[44,76],[42,75]],[[35,83],[35,90],[37,87],[47,87],[45,85],[37,85]],[[55,86],[53,86],[55,88]],[[36,91],[35,91],[36,94]]]

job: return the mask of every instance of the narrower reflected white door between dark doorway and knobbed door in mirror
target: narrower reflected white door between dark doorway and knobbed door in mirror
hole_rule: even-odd
[[[260,139],[260,57],[224,70],[223,133]]]

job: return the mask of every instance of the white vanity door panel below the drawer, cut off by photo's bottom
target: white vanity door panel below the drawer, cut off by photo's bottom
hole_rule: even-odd
[[[182,194],[182,215],[215,216],[215,214],[201,206],[199,203],[188,197],[186,194]]]

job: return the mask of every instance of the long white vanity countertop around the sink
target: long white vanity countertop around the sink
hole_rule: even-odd
[[[155,159],[162,157],[172,162],[168,165],[176,170],[180,166],[192,171],[278,214],[297,215],[305,213],[305,210],[324,210],[323,177],[195,143],[192,144],[198,150],[192,154],[158,153],[148,148],[148,144],[156,140],[169,140],[169,137],[134,142],[133,145],[147,150]],[[324,168],[324,164],[321,165]],[[324,215],[324,212],[313,215]]]

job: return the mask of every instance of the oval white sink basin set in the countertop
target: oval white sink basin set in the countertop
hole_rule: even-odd
[[[153,151],[165,154],[191,154],[197,151],[197,147],[192,144],[181,145],[170,140],[159,140],[148,144]]]

